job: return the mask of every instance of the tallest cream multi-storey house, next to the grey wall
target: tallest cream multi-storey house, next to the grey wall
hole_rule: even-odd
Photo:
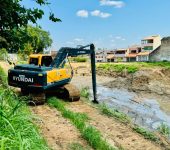
[[[149,61],[149,54],[161,45],[161,37],[153,35],[141,40],[142,50],[137,54],[137,61]]]

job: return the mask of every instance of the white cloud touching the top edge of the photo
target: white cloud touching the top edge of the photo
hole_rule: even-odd
[[[114,6],[116,8],[122,8],[125,6],[125,3],[120,0],[100,0],[101,6]]]

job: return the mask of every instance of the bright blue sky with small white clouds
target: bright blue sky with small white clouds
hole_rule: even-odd
[[[49,31],[50,49],[94,43],[96,48],[126,48],[150,35],[170,36],[170,0],[49,0],[38,24]],[[37,7],[24,0],[28,8]],[[39,7],[39,6],[38,6]],[[52,11],[62,22],[48,19]]]

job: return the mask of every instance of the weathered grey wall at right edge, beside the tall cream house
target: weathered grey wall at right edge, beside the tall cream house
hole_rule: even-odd
[[[161,46],[149,55],[150,61],[170,61],[170,37],[161,40]]]

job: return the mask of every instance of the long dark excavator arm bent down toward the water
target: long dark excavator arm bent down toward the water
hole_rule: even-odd
[[[90,48],[90,49],[87,49]],[[97,101],[97,88],[96,88],[96,65],[95,65],[95,47],[94,44],[89,44],[86,46],[81,46],[79,48],[70,48],[63,47],[59,50],[56,57],[54,58],[51,67],[59,68],[64,67],[65,59],[67,57],[77,57],[79,55],[90,55],[91,57],[91,70],[92,70],[92,86],[93,86],[93,97],[94,103],[98,103]]]

